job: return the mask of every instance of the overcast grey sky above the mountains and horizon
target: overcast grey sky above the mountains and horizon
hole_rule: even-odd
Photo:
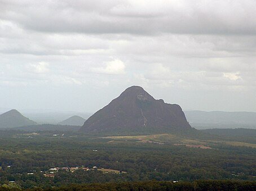
[[[95,112],[131,85],[256,111],[256,1],[0,0],[0,107]]]

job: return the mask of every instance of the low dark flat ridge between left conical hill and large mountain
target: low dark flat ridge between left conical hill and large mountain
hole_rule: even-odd
[[[74,126],[74,125],[42,124],[42,125],[20,126],[12,129],[33,132],[33,131],[78,131],[80,130],[80,128],[81,126]]]

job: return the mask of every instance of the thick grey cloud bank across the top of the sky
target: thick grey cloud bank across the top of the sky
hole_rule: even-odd
[[[2,19],[51,33],[256,34],[251,1],[2,2]],[[8,9],[8,10],[7,10]]]

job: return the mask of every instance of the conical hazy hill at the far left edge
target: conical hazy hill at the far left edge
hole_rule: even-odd
[[[17,110],[10,110],[0,115],[0,128],[14,128],[17,126],[36,124],[36,122],[21,115]]]

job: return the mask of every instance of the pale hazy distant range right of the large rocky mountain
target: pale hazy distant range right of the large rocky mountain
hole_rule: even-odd
[[[256,112],[184,111],[189,124],[196,129],[256,129]]]

